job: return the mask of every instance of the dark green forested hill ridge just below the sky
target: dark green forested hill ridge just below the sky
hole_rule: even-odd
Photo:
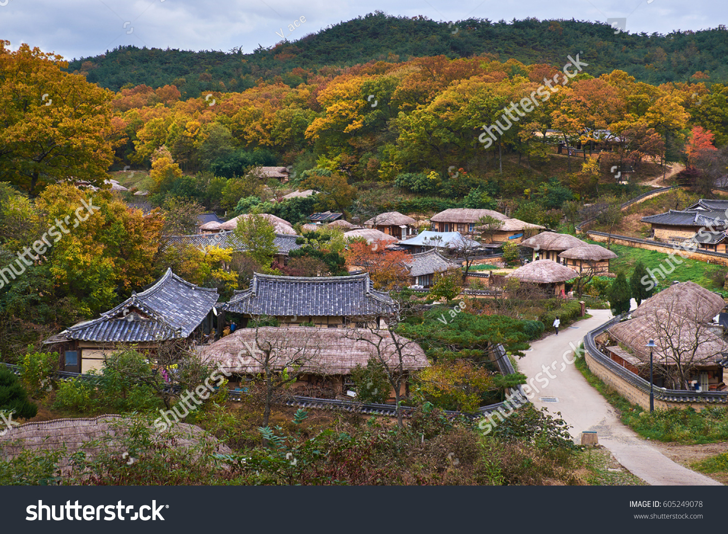
[[[285,28],[283,28],[285,31]],[[581,51],[593,76],[614,69],[638,81],[661,84],[689,81],[728,81],[728,31],[724,25],[705,31],[614,33],[606,23],[528,18],[469,19],[438,23],[427,17],[392,17],[381,12],[358,17],[298,41],[282,41],[268,49],[244,54],[189,52],[178,49],[118,47],[106,55],[74,60],[69,71],[87,74],[88,81],[118,91],[124,85],[157,88],[174,84],[183,98],[199,92],[242,91],[259,79],[280,79],[295,87],[311,73],[371,60],[405,61],[411,57],[446,55],[469,57],[493,54],[498,60],[522,63],[566,63],[566,55]],[[301,33],[303,35],[303,33]],[[695,81],[695,79],[693,80]]]

